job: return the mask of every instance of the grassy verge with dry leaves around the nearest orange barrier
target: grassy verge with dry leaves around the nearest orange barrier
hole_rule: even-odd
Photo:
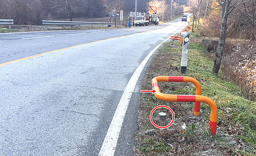
[[[191,38],[200,38],[198,32]],[[170,44],[175,45],[172,48]],[[154,95],[141,95],[139,116],[140,130],[135,137],[137,155],[239,155],[256,154],[256,102],[245,99],[241,89],[233,82],[224,81],[221,74],[212,73],[213,60],[206,48],[200,43],[190,43],[187,73],[180,74],[182,47],[178,42],[163,43],[145,74],[143,90],[151,89],[151,79],[156,76],[189,76],[198,79],[202,86],[202,95],[213,99],[218,106],[217,135],[209,133],[210,108],[201,103],[200,116],[193,115],[192,102],[164,102]],[[165,94],[195,95],[195,87],[189,83],[159,82],[161,92]],[[157,105],[167,105],[175,111],[175,123],[168,129],[155,128],[149,114]],[[186,129],[181,125],[186,124]],[[145,131],[153,129],[154,136]],[[148,139],[150,138],[150,142]],[[185,140],[183,142],[183,140]],[[161,148],[157,145],[161,145]],[[195,145],[198,145],[196,147]]]

